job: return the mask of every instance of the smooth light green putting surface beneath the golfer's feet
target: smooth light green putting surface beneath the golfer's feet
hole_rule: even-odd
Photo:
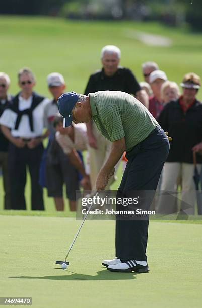
[[[201,307],[201,224],[150,222],[146,274],[111,273],[114,222],[0,216],[0,296],[32,297],[33,307]]]

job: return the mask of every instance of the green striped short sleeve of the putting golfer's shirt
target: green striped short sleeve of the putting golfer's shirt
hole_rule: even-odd
[[[106,107],[103,111],[103,115],[101,112],[101,118],[103,119],[103,125],[109,135],[109,139],[111,142],[119,140],[125,136],[118,107]]]

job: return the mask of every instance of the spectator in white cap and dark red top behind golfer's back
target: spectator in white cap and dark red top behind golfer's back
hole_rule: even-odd
[[[150,74],[149,81],[153,91],[153,95],[149,98],[149,111],[155,119],[158,119],[164,106],[161,99],[161,87],[167,81],[166,73],[162,70],[155,70]]]

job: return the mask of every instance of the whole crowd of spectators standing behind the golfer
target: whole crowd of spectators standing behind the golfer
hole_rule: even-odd
[[[144,81],[138,82],[129,68],[119,65],[120,58],[118,47],[104,46],[102,68],[90,75],[84,94],[123,91],[141,101],[173,139],[159,189],[177,191],[180,187],[184,204],[194,204],[194,168],[197,165],[201,172],[202,163],[202,103],[196,98],[200,77],[193,72],[186,73],[179,88],[175,81],[168,80],[157,63],[148,61],[142,64]],[[48,196],[54,198],[56,210],[63,211],[65,184],[70,210],[75,211],[76,191],[95,189],[96,177],[108,158],[111,143],[100,134],[93,121],[86,125],[72,123],[63,128],[57,100],[67,90],[59,72],[47,76],[51,99],[34,91],[35,82],[29,68],[20,69],[20,91],[13,96],[9,93],[9,75],[0,72],[0,167],[4,208],[26,209],[24,192],[28,170],[32,210],[44,210],[43,188],[46,188]],[[87,151],[85,160],[84,151]],[[125,167],[124,156],[122,160]],[[116,173],[106,190],[114,181]],[[157,206],[161,208],[162,202]],[[163,208],[165,213],[173,213],[177,211],[177,204],[169,201]],[[194,206],[185,209],[188,214],[194,214],[194,210]]]

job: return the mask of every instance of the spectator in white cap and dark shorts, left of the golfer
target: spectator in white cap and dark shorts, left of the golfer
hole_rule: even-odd
[[[79,176],[75,166],[55,140],[54,119],[58,114],[57,100],[63,94],[65,82],[58,72],[47,76],[47,84],[53,99],[45,107],[44,123],[49,131],[49,143],[45,162],[45,186],[48,197],[53,197],[57,211],[64,210],[63,184],[69,199],[71,211],[76,210],[76,190],[79,190]]]

